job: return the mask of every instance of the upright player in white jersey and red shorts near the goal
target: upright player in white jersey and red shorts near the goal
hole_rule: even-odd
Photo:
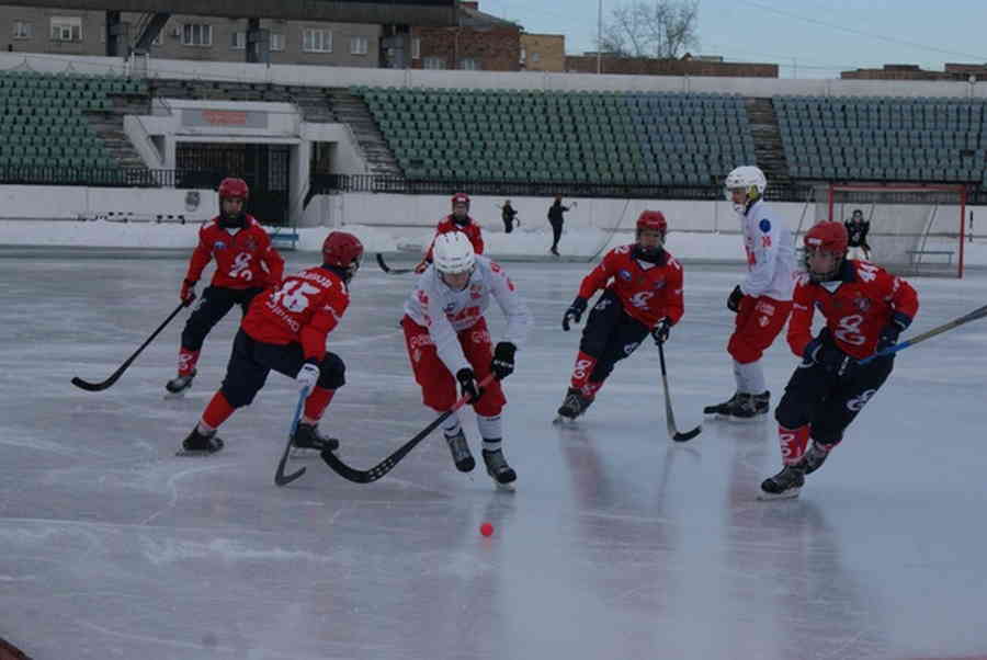
[[[704,408],[706,414],[750,420],[765,417],[770,408],[760,361],[792,311],[795,247],[792,232],[764,203],[767,187],[764,172],[753,166],[736,168],[726,179],[727,198],[740,220],[748,273],[727,298],[727,308],[737,315],[727,343],[737,390],[729,400]]]

